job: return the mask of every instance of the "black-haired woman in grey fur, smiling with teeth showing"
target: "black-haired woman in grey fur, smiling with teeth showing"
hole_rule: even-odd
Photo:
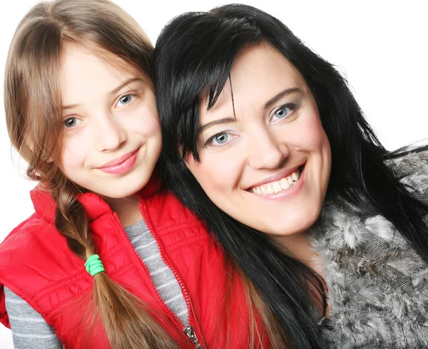
[[[250,6],[171,21],[154,79],[168,183],[287,348],[427,348],[427,147],[387,152],[335,68]]]

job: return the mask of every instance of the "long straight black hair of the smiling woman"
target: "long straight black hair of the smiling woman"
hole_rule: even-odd
[[[161,161],[167,170],[163,175],[253,282],[290,346],[322,348],[314,304],[320,297],[311,295],[314,289],[322,295],[320,276],[281,253],[262,232],[215,207],[183,161],[187,155],[199,160],[201,91],[208,90],[208,108],[212,108],[238,52],[260,41],[277,48],[300,71],[315,97],[332,149],[329,197],[337,204],[350,203],[363,214],[382,214],[425,261],[427,207],[409,194],[385,164],[392,155],[368,125],[346,80],[279,20],[251,6],[227,5],[209,13],[183,14],[163,28],[156,43],[154,72],[163,130]]]

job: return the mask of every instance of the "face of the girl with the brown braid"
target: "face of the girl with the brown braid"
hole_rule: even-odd
[[[63,51],[61,170],[81,187],[122,198],[146,185],[162,142],[151,83],[116,59],[71,44]]]

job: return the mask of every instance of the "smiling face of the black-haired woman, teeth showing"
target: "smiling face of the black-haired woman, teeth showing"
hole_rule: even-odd
[[[230,82],[232,90],[230,90]],[[210,111],[200,103],[200,162],[188,168],[208,197],[267,234],[305,231],[320,214],[330,144],[302,75],[267,43],[236,57]]]

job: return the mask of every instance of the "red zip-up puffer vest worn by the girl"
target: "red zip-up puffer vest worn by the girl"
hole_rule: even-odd
[[[205,226],[173,194],[157,187],[152,180],[139,194],[141,214],[181,286],[200,345],[248,348],[250,315],[240,278],[230,276],[220,246]],[[10,327],[4,302],[7,286],[41,313],[66,348],[110,348],[101,324],[95,323],[89,332],[84,322],[93,277],[57,231],[54,199],[37,188],[31,199],[36,212],[0,245],[1,323]],[[163,303],[118,216],[96,194],[82,194],[78,200],[88,212],[106,274],[141,298],[181,348],[195,348],[183,324]],[[269,348],[266,333],[263,348]]]

